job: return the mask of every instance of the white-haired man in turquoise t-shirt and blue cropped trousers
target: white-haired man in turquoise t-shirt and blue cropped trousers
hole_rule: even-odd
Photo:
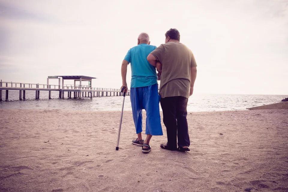
[[[131,63],[131,90],[130,100],[132,105],[133,120],[136,128],[137,139],[132,144],[142,146],[142,152],[150,152],[149,145],[152,135],[163,135],[159,111],[159,94],[157,73],[155,66],[147,61],[147,56],[157,47],[150,45],[149,35],[141,33],[138,36],[137,46],[128,50],[122,67],[122,87],[128,90],[126,82],[127,66]],[[121,88],[122,88],[121,87]],[[146,110],[146,134],[142,140],[142,110]]]

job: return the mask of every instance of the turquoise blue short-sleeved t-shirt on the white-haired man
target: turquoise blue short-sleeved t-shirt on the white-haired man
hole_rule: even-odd
[[[127,52],[124,60],[131,63],[131,88],[146,87],[157,83],[156,67],[147,61],[147,56],[156,46],[139,44]]]

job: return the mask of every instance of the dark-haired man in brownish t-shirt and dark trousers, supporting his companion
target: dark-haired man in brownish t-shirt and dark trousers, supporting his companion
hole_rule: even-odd
[[[165,33],[165,37],[165,44],[160,45],[147,57],[151,65],[157,66],[158,71],[162,70],[159,93],[168,141],[160,146],[163,149],[176,150],[178,136],[177,150],[190,151],[187,103],[193,93],[197,65],[191,50],[179,43],[180,34],[177,29],[170,29]]]

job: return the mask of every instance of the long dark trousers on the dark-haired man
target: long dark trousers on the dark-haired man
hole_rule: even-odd
[[[167,130],[167,145],[171,149],[178,146],[190,146],[187,123],[187,103],[188,98],[182,96],[165,97],[160,100],[163,110],[163,122]]]

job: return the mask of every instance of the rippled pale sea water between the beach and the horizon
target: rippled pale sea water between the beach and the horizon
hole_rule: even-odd
[[[57,91],[52,91],[52,99],[48,99],[48,91],[40,91],[40,99],[35,100],[35,91],[26,91],[26,99],[19,100],[19,91],[9,91],[9,100],[1,101],[0,108],[67,111],[121,111],[122,108],[122,96],[69,99],[65,92],[64,99],[59,99],[58,95]],[[277,103],[286,97],[287,95],[194,93],[188,100],[187,111],[246,110],[250,107]],[[2,98],[5,99],[5,91],[2,93]],[[126,96],[124,111],[131,110],[130,96]]]

